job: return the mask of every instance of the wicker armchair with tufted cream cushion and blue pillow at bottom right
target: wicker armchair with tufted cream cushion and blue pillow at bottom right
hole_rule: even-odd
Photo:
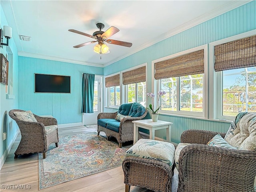
[[[256,113],[239,113],[227,133],[184,131],[175,163],[178,192],[256,192]]]

